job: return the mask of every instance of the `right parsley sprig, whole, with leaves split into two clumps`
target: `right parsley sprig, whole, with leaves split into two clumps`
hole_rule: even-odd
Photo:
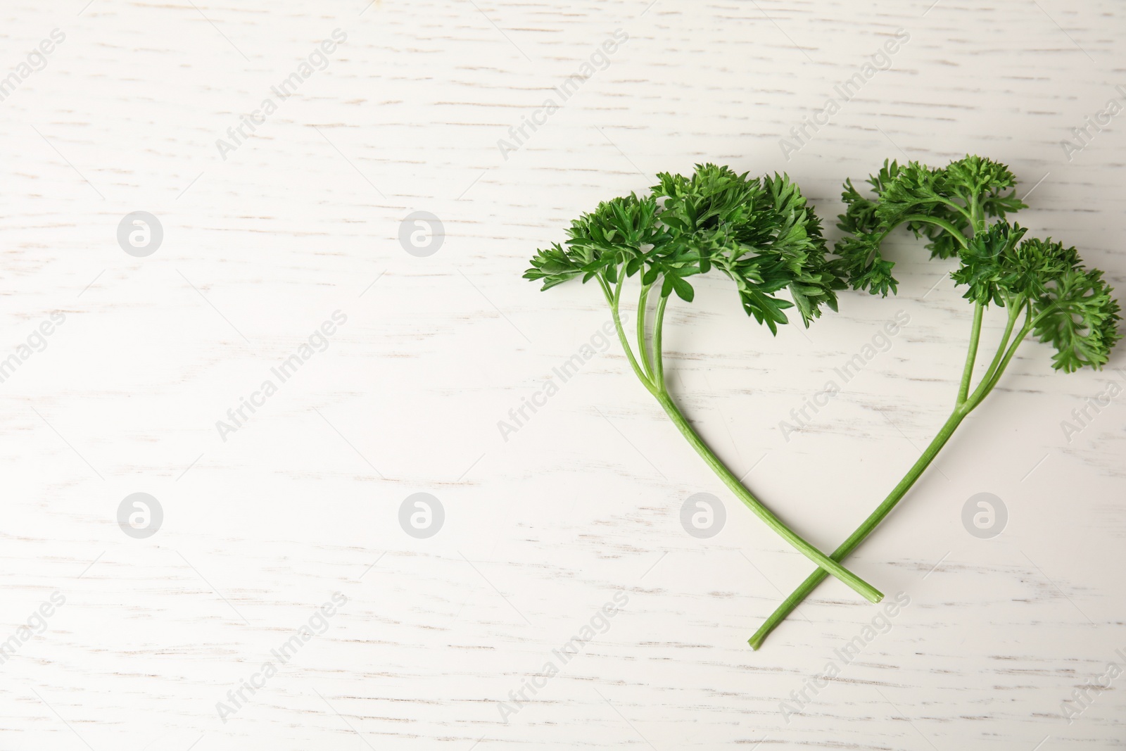
[[[968,155],[945,168],[885,161],[868,184],[873,197],[861,195],[850,180],[842,194],[846,211],[838,226],[847,234],[835,252],[838,270],[849,285],[883,296],[896,292],[894,263],[883,258],[881,248],[893,230],[906,225],[917,238],[926,239],[931,258],[957,257],[959,266],[950,276],[966,287],[964,296],[974,312],[949,418],[884,502],[837,548],[834,561],[851,554],[895,508],[965,417],[993,391],[1026,337],[1051,343],[1056,350],[1052,367],[1065,373],[1101,368],[1121,338],[1118,302],[1102,271],[1085,268],[1074,248],[1051,238],[1026,238],[1025,227],[1008,222],[1007,215],[1025,204],[1016,197],[1017,180],[1004,164]],[[982,320],[991,305],[1007,312],[1006,328],[971,391]],[[751,646],[759,649],[823,580],[823,570],[811,574],[751,637]]]

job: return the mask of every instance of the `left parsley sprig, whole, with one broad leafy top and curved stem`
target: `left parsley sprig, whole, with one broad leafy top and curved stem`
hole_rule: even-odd
[[[808,325],[822,306],[837,310],[835,290],[844,285],[826,259],[816,214],[786,176],[748,178],[727,167],[700,164],[690,177],[662,173],[658,179],[649,195],[604,202],[572,221],[565,245],[537,251],[525,278],[543,281],[544,289],[575,278],[597,283],[634,374],[705,463],[790,545],[878,602],[879,591],[810,545],[743,486],[681,413],[664,378],[665,310],[673,294],[692,302],[690,279],[698,274],[717,269],[727,276],[743,310],[771,333],[789,322],[787,311]],[[620,315],[627,279],[638,295],[633,346]],[[777,296],[783,290],[790,299]]]

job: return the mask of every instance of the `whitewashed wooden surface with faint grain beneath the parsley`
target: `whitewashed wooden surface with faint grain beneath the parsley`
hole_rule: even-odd
[[[65,34],[0,102],[0,355],[64,315],[0,384],[0,641],[18,645],[0,748],[1126,745],[1126,676],[1074,722],[1062,708],[1126,668],[1126,396],[1070,441],[1061,428],[1126,384],[1121,350],[1121,370],[1063,375],[1025,345],[851,558],[910,605],[848,660],[881,610],[837,582],[748,649],[810,564],[725,493],[616,343],[498,429],[608,320],[589,286],[521,280],[531,251],[697,161],[787,171],[835,238],[844,177],[982,153],[1036,186],[1022,224],[1126,286],[1126,114],[1070,160],[1061,145],[1126,101],[1120,3],[86,2],[0,10],[0,73]],[[221,155],[333,29],[347,39],[324,70]],[[605,70],[536,114],[616,29],[628,41]],[[779,140],[899,29],[891,68],[787,160]],[[163,227],[144,258],[116,236],[135,211]],[[400,244],[415,211],[445,227],[429,257]],[[721,278],[670,306],[685,411],[825,549],[956,391],[968,309],[948,265],[899,247],[899,298],[846,293],[804,333],[770,338]],[[334,311],[327,349],[224,440],[216,421]],[[897,311],[890,350],[787,441],[779,421]],[[1000,328],[989,318],[986,338]],[[163,510],[148,538],[117,524],[135,492]],[[445,509],[429,538],[399,522],[417,492]],[[712,539],[680,525],[697,492],[726,503]],[[1009,512],[992,539],[962,524],[981,492]],[[334,592],[347,601],[322,619]],[[608,631],[536,678],[615,594]],[[227,691],[311,623],[323,633],[224,722]]]

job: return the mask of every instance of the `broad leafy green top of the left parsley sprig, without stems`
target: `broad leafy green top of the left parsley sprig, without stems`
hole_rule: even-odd
[[[796,309],[802,322],[837,310],[844,287],[826,259],[821,222],[786,176],[748,178],[729,167],[698,164],[690,176],[661,173],[644,198],[604,202],[571,223],[557,243],[531,259],[527,279],[544,289],[582,276],[617,284],[619,275],[660,281],[663,297],[691,302],[687,280],[717,268],[735,283],[748,315],[772,333]],[[790,299],[777,293],[789,293]]]

